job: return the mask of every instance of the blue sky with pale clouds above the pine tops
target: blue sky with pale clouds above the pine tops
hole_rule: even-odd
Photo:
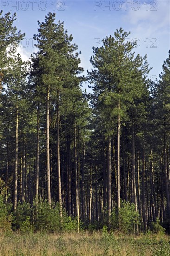
[[[48,12],[56,13],[56,20],[64,21],[68,34],[72,34],[82,54],[81,65],[92,68],[89,59],[94,45],[117,28],[131,31],[128,40],[137,40],[136,53],[147,54],[149,78],[154,80],[162,71],[163,61],[170,49],[169,0],[0,0],[3,13],[17,13],[15,25],[26,33],[18,51],[24,60],[36,51],[33,34],[37,33],[37,20],[44,21]],[[86,88],[86,86],[85,86]]]

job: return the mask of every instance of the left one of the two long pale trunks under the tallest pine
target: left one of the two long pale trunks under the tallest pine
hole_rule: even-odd
[[[51,206],[49,115],[50,115],[50,87],[48,86],[47,95],[46,95],[46,174],[47,174],[47,198],[48,198],[48,203]]]

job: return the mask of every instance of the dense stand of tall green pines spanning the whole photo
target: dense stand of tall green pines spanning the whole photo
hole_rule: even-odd
[[[158,219],[170,230],[170,51],[150,81],[147,57],[120,28],[93,47],[84,77],[78,47],[54,13],[38,21],[28,62],[16,54],[25,34],[15,19],[0,13],[1,215],[12,212],[16,223],[20,211],[22,223],[31,216],[36,225],[45,208],[60,228],[67,213],[78,231],[131,222],[138,233]]]

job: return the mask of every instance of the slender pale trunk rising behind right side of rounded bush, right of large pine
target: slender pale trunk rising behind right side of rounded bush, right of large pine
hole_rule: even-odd
[[[136,175],[135,175],[135,127],[134,120],[132,124],[132,173],[133,173],[133,195],[135,203],[135,211],[137,212],[137,192],[136,192]],[[139,233],[138,224],[136,224],[137,234]]]

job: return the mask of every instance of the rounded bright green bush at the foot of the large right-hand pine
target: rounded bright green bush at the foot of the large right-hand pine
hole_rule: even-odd
[[[139,224],[139,214],[135,211],[135,205],[129,202],[121,202],[121,208],[114,208],[111,213],[111,229],[118,229],[119,223],[121,231],[131,233],[134,231],[134,225]]]

